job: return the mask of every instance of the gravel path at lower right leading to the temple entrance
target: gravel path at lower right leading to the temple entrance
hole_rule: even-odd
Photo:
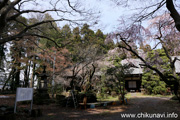
[[[123,118],[123,114],[132,116]],[[131,106],[127,110],[115,114],[113,120],[120,118],[123,120],[180,120],[180,104],[178,101],[170,101],[169,98],[135,97],[131,101]],[[107,118],[106,120],[111,119]]]

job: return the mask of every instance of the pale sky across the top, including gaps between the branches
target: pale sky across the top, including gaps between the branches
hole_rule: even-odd
[[[38,10],[39,9],[46,10],[51,7],[51,5],[49,4],[49,1],[55,2],[57,0],[36,0],[36,2],[38,2],[37,4],[38,7],[36,5],[32,7],[34,3],[31,2],[31,4],[29,3],[25,4],[23,9],[33,8],[33,9],[38,9]],[[72,5],[73,5],[73,1],[74,0],[71,0]],[[131,0],[131,3],[130,3],[131,9],[125,8],[123,6],[117,6],[114,2],[112,2],[112,0],[77,0],[77,1],[80,1],[82,7],[84,7],[86,10],[92,9],[94,12],[97,12],[97,13],[101,12],[98,24],[94,25],[92,29],[94,30],[101,29],[104,33],[110,33],[112,31],[116,31],[119,25],[118,19],[129,18],[134,12],[132,8],[143,6],[143,4],[139,5],[139,2],[137,2],[136,0],[135,1]],[[62,9],[63,8],[62,3],[66,3],[64,5],[67,6],[67,1],[66,1],[66,2],[59,2],[57,7]],[[148,2],[142,2],[142,3],[148,3]],[[53,17],[54,19],[57,19],[56,14],[53,14]],[[76,19],[77,18],[78,17],[76,17]],[[70,19],[72,19],[72,16]],[[130,20],[126,22],[130,22]],[[60,27],[62,27],[64,24],[65,22],[58,23]]]

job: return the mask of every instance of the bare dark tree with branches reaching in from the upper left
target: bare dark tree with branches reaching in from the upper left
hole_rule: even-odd
[[[48,5],[47,5],[48,4]],[[43,10],[42,7],[46,9]],[[42,20],[33,24],[22,21],[22,17],[29,14],[54,14],[54,20]],[[90,20],[93,12],[85,10],[80,6],[78,0],[1,0],[0,1],[0,44],[12,40],[20,40],[24,36],[37,36],[51,40],[47,36],[32,33],[32,30],[38,30],[38,26],[45,23],[53,23],[59,21],[67,21],[77,24],[79,21]],[[78,17],[77,17],[78,16]],[[91,19],[92,20],[92,19]],[[14,24],[23,26],[21,31],[12,31],[9,27]],[[41,32],[41,30],[39,30]]]

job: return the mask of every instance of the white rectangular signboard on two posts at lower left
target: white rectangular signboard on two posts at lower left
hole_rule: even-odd
[[[14,113],[16,113],[17,102],[31,101],[31,110],[33,104],[33,88],[17,88]]]

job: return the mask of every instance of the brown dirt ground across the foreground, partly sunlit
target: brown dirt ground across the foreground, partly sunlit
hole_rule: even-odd
[[[14,98],[1,98],[0,105],[14,105]],[[18,107],[28,108],[30,106],[19,105]],[[42,110],[42,116],[36,118],[26,118],[29,120],[180,120],[180,103],[170,100],[166,97],[140,97],[136,93],[132,93],[132,98],[128,101],[128,105],[114,105],[107,107],[97,107],[94,109],[74,109],[63,108],[56,104],[37,106],[33,108]],[[136,117],[124,114],[133,114]],[[158,118],[157,114],[161,114],[162,118]],[[156,116],[152,116],[156,115]],[[177,116],[179,115],[179,116]],[[137,118],[138,117],[138,118]],[[150,118],[151,117],[151,118]],[[156,117],[156,118],[153,118]],[[168,117],[168,118],[167,118]],[[178,118],[177,118],[178,117]],[[25,118],[24,118],[25,119]]]

